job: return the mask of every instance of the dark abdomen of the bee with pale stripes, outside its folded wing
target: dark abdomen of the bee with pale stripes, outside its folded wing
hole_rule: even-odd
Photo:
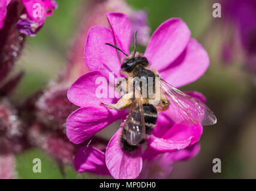
[[[134,152],[141,144],[146,142],[146,139],[152,134],[153,128],[156,125],[156,120],[158,117],[158,112],[156,108],[151,104],[144,104],[144,122],[146,128],[146,138],[142,139],[140,143],[136,145],[130,145],[127,140],[125,140],[125,129],[122,128],[122,135],[121,135],[121,147],[128,152]]]

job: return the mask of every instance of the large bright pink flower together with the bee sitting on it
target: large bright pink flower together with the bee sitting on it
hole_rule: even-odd
[[[154,150],[171,152],[197,143],[202,125],[215,124],[215,115],[204,104],[202,94],[183,93],[176,88],[200,78],[209,66],[209,57],[190,38],[188,26],[177,18],[158,27],[143,56],[136,49],[128,55],[131,41],[128,17],[122,13],[106,15],[112,29],[94,26],[88,32],[85,63],[92,72],[81,76],[68,90],[68,99],[80,108],[67,119],[67,136],[75,144],[83,143],[107,125],[123,120],[107,146],[106,167],[114,178],[136,178],[143,165],[141,141]],[[117,48],[124,54],[118,54]],[[160,101],[149,102],[138,84],[131,86],[132,95],[127,92],[125,95],[129,96],[120,100],[105,92],[98,98],[95,82],[100,77],[107,79],[109,73],[159,78]],[[115,89],[113,84],[106,84],[108,90]],[[153,80],[153,84],[158,82]],[[145,116],[150,119],[145,120]]]

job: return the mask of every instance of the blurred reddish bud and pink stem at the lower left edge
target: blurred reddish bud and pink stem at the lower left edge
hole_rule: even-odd
[[[28,147],[24,125],[5,98],[0,99],[0,179],[16,178],[15,153]]]

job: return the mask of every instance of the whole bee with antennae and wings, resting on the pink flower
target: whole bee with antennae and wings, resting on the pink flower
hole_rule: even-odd
[[[122,123],[121,148],[128,152],[137,150],[152,134],[158,112],[165,110],[168,110],[170,118],[178,124],[186,126],[215,124],[216,117],[209,107],[168,84],[156,70],[149,68],[147,58],[137,52],[136,41],[137,32],[134,36],[134,51],[129,55],[115,45],[106,43],[125,54],[121,70],[128,77],[132,77],[132,80],[125,78],[125,81],[116,85],[116,87],[124,85],[128,87],[118,103],[102,103],[111,109],[130,109]],[[146,85],[141,84],[140,79],[144,79]],[[149,82],[149,79],[152,80]],[[150,87],[153,89],[152,93],[148,91]],[[144,90],[146,96],[145,94],[143,96]]]

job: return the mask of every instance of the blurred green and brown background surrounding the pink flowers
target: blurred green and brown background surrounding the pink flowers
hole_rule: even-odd
[[[71,39],[79,26],[77,11],[85,0],[59,0],[58,9],[48,17],[36,37],[28,38],[17,69],[25,69],[14,99],[25,99],[57,78],[67,63]],[[256,110],[250,108],[255,87],[242,69],[241,61],[225,66],[219,58],[222,28],[220,18],[212,17],[212,1],[204,0],[128,0],[133,8],[147,11],[151,33],[170,17],[180,17],[210,56],[210,67],[198,81],[182,87],[196,90],[207,97],[207,105],[215,112],[218,123],[204,128],[201,151],[194,159],[174,165],[170,178],[256,178]],[[89,4],[89,1],[88,1]],[[144,48],[140,47],[143,52]],[[42,159],[42,173],[31,171],[32,159]],[[222,161],[222,172],[212,172],[213,158]],[[19,178],[64,178],[58,165],[39,149],[31,149],[16,157]],[[65,167],[65,178],[88,178]]]

